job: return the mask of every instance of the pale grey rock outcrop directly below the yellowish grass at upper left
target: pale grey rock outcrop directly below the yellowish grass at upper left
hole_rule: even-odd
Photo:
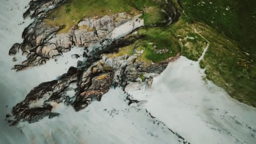
[[[21,50],[22,55],[27,55],[26,61],[14,66],[13,69],[17,71],[45,64],[49,59],[56,58],[56,56],[70,51],[72,46],[88,47],[93,43],[97,43],[107,37],[115,27],[132,19],[126,13],[84,18],[78,24],[77,29],[72,27],[69,29],[69,32],[59,34],[58,31],[64,26],[49,26],[45,24],[43,19],[46,16],[45,8],[47,6],[53,7],[53,5],[57,5],[63,0],[48,0],[47,3],[42,2],[40,3],[42,6],[40,8],[36,6],[37,1],[31,2],[30,11],[36,9],[37,12],[32,14],[32,16],[37,16],[38,18],[24,30],[22,34],[23,43],[14,44],[9,51],[9,55],[15,55],[19,50]]]

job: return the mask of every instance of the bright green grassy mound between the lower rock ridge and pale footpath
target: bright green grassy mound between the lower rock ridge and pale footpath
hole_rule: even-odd
[[[197,24],[199,25],[199,24]],[[207,45],[206,40],[194,32],[193,24],[187,24],[183,17],[175,24],[162,27],[144,27],[126,36],[133,45],[121,48],[111,57],[143,51],[138,59],[144,62],[159,63],[181,52],[189,59],[197,61]],[[136,51],[135,51],[136,50]]]

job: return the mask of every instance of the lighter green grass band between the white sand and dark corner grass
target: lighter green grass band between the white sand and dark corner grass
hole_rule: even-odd
[[[256,69],[253,59],[225,35],[212,29],[201,33],[210,42],[208,51],[200,61],[208,80],[224,88],[235,99],[256,107]]]

